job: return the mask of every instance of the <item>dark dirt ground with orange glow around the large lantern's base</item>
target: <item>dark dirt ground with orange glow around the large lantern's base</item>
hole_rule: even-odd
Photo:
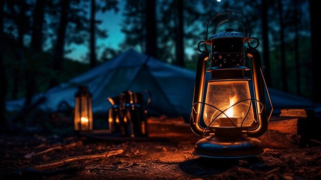
[[[0,179],[321,179],[318,146],[266,148],[265,154],[255,157],[220,160],[195,156],[194,144],[194,140],[170,138],[116,141],[2,134]],[[106,156],[68,161],[73,156],[101,153]],[[39,168],[59,161],[63,164]]]

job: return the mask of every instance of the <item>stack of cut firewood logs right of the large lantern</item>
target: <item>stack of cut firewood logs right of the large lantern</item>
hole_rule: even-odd
[[[321,138],[320,118],[315,116],[314,111],[287,109],[282,113],[283,116],[274,117],[269,121],[267,133],[259,137],[265,147],[307,148],[313,144],[311,139],[317,141]]]

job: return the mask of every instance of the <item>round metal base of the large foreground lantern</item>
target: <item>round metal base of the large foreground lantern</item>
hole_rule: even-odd
[[[263,154],[262,143],[246,134],[220,133],[200,139],[194,148],[194,154],[210,158],[243,158]]]

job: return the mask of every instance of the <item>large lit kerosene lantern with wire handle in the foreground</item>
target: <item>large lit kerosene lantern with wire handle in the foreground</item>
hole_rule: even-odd
[[[233,14],[246,19],[246,23]],[[214,29],[209,39],[209,23],[215,17],[224,16]],[[244,25],[246,33],[236,32],[232,28],[216,33],[222,23],[234,20]],[[257,45],[249,43],[255,39]],[[244,43],[248,44],[247,53]],[[205,44],[205,50],[200,45]],[[268,93],[262,64],[258,51],[258,39],[251,37],[247,18],[236,11],[224,11],[212,16],[207,24],[206,41],[198,43],[202,54],[198,58],[193,106],[191,112],[191,128],[193,132],[205,138],[200,139],[194,147],[194,153],[202,157],[239,158],[264,153],[258,137],[268,127],[265,103],[265,88]],[[208,50],[207,46],[211,49]],[[246,77],[245,54],[250,57],[252,78]],[[207,62],[211,67],[206,70]],[[206,79],[206,72],[210,78]],[[207,83],[205,83],[207,81]],[[204,87],[207,85],[206,92]],[[250,91],[253,85],[253,92]],[[206,94],[205,100],[203,95]],[[270,98],[270,97],[269,97]],[[270,100],[271,103],[271,100]],[[271,103],[272,106],[272,103]],[[273,110],[273,108],[272,108]],[[203,122],[202,122],[203,120]],[[205,126],[205,125],[206,126]]]

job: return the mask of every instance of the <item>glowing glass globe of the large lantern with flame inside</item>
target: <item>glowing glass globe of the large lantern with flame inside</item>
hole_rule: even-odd
[[[246,99],[251,99],[248,81],[208,82],[205,103],[212,106],[204,106],[204,123],[214,128],[250,127],[254,114]]]

